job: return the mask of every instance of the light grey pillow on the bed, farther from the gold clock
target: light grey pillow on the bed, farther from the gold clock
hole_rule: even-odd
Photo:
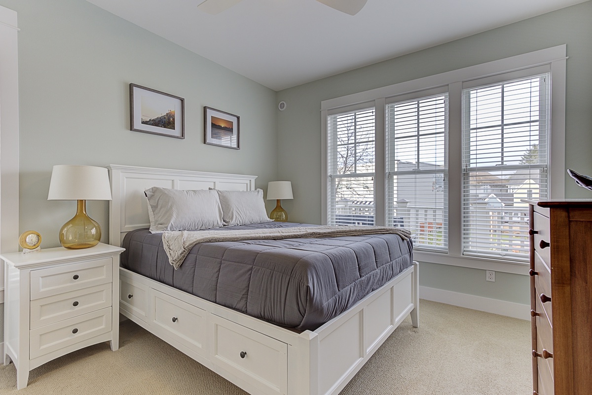
[[[269,219],[263,201],[263,190],[217,190],[225,226],[259,224]]]

